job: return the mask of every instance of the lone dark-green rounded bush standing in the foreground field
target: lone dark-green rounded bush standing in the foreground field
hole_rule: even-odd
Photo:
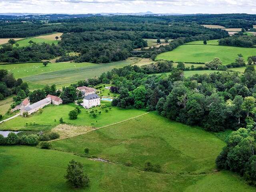
[[[71,160],[68,164],[67,173],[65,175],[67,182],[75,188],[88,186],[90,179],[84,174],[84,166],[80,162]]]

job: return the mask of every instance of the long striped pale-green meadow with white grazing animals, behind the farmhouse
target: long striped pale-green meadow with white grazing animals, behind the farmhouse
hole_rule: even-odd
[[[49,63],[46,67],[42,63],[0,64],[0,69],[6,69],[14,74],[15,78],[22,78],[28,82],[31,90],[43,88],[45,85],[56,84],[58,88],[64,85],[100,76],[103,72],[113,68],[134,64],[136,60],[128,58],[124,61],[95,64],[61,62]]]

